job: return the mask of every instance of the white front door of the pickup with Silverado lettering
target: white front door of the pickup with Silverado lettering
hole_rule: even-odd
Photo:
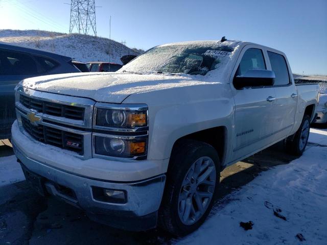
[[[233,78],[243,55],[249,48],[262,47],[248,44],[242,48],[238,61],[230,75],[230,89],[235,100],[235,121],[233,124],[233,154],[230,160],[239,159],[248,153],[258,150],[262,145],[272,141],[272,106],[269,97],[275,97],[273,87],[258,87],[236,89],[233,86]],[[264,51],[263,56],[266,60]]]

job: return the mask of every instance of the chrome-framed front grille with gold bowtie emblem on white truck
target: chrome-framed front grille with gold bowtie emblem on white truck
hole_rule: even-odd
[[[93,100],[21,86],[15,90],[16,115],[22,131],[79,158],[92,157]]]

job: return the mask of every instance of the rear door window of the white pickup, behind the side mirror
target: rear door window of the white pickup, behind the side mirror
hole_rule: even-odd
[[[270,60],[271,69],[275,72],[274,86],[289,84],[290,76],[284,56],[270,51],[267,53]]]

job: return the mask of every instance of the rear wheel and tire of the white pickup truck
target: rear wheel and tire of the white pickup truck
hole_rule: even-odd
[[[286,140],[286,148],[289,153],[301,156],[306,149],[310,133],[310,117],[303,116],[300,128],[293,135],[293,140]]]

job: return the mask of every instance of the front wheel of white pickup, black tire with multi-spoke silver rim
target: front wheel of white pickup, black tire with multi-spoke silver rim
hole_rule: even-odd
[[[211,145],[179,142],[171,156],[159,225],[177,236],[198,229],[214,204],[219,181],[220,161]]]

